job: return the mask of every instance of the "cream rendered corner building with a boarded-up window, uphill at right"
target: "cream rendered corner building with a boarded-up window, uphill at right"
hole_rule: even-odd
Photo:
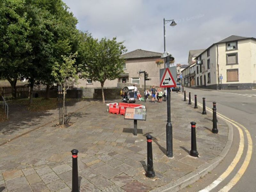
[[[256,87],[256,38],[231,35],[195,57],[195,86],[208,89]],[[191,76],[191,71],[183,76]],[[190,84],[185,86],[192,86]]]

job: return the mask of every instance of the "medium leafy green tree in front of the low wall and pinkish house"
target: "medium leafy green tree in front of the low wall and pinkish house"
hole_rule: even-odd
[[[105,37],[98,41],[87,33],[82,34],[81,39],[78,50],[80,59],[84,60],[82,76],[100,82],[102,102],[105,102],[103,91],[105,81],[114,80],[124,72],[125,60],[121,57],[127,51],[124,42],[117,42],[116,37],[113,39]]]

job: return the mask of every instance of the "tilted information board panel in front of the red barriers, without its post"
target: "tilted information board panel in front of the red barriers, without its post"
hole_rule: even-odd
[[[147,109],[126,108],[124,119],[146,121],[146,116],[147,116]]]

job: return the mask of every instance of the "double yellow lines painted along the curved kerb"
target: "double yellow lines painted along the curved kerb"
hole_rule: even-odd
[[[191,101],[193,101],[193,100],[191,100]],[[199,105],[200,107],[203,107],[203,105],[200,104],[200,103],[197,103],[197,105]],[[212,113],[212,109],[211,108],[208,108],[208,107],[205,107],[205,108],[206,108],[206,110],[208,110],[209,112]],[[250,163],[251,157],[252,157],[252,138],[251,138],[251,135],[250,135],[249,131],[243,125],[237,123],[236,121],[233,121],[232,119],[229,119],[228,117],[226,117],[226,116],[224,116],[224,115],[222,115],[220,113],[217,113],[217,116],[220,117],[221,119],[223,119],[224,121],[229,122],[230,124],[232,124],[233,126],[235,126],[237,128],[237,130],[239,132],[239,136],[240,136],[239,147],[238,147],[238,150],[237,150],[235,158],[233,159],[231,164],[228,166],[227,170],[225,172],[223,172],[217,180],[215,180],[212,184],[210,184],[206,188],[202,189],[200,192],[211,191],[221,181],[226,179],[228,177],[228,175],[235,169],[235,167],[238,164],[239,160],[241,159],[241,156],[242,156],[243,151],[244,151],[244,133],[243,133],[242,129],[244,130],[244,132],[246,134],[246,137],[247,137],[247,140],[248,140],[248,148],[247,148],[247,152],[246,152],[246,156],[245,156],[244,162],[243,162],[242,166],[240,167],[240,169],[238,170],[238,172],[236,173],[236,175],[228,182],[228,184],[226,186],[224,186],[220,190],[220,192],[227,192],[232,187],[234,187],[234,185],[236,185],[236,183],[243,176],[245,170],[247,169],[247,167],[248,167],[248,165]]]

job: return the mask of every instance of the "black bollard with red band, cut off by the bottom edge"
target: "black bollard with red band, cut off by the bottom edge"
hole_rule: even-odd
[[[72,192],[79,192],[78,189],[78,167],[77,167],[77,149],[73,149],[72,153]]]

